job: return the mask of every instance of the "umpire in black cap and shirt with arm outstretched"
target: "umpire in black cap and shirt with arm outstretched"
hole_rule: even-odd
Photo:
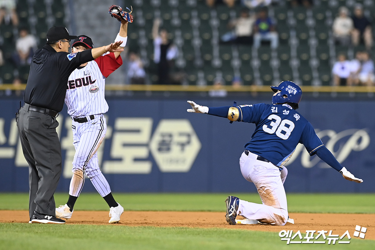
[[[68,53],[70,36],[65,27],[52,27],[47,43],[30,65],[24,106],[16,115],[22,150],[29,165],[31,223],[64,224],[55,217],[54,193],[62,172],[61,145],[56,117],[63,109],[69,75],[81,64],[105,52],[123,51],[122,41],[78,53]]]

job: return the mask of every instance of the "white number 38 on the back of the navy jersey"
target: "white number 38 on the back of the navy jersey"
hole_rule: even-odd
[[[269,125],[263,125],[263,131],[269,134],[273,134],[276,132],[276,136],[279,138],[286,140],[289,138],[290,134],[294,129],[293,121],[288,119],[281,120],[278,115],[272,114],[267,117],[268,120],[271,120]]]

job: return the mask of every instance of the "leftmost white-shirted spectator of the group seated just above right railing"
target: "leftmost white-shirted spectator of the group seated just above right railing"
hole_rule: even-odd
[[[351,63],[347,60],[345,54],[339,54],[338,61],[333,64],[332,75],[333,85],[345,86],[352,85],[351,78]]]

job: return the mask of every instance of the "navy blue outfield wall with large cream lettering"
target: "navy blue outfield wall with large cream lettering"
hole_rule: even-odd
[[[270,103],[269,99],[254,103]],[[194,101],[205,106],[233,104],[229,100]],[[239,105],[254,104],[245,99],[236,101]],[[107,134],[98,159],[113,192],[256,192],[239,168],[254,124],[229,124],[226,118],[188,113],[186,100],[133,98],[107,102]],[[286,164],[285,190],[374,192],[374,105],[374,101],[303,100],[299,112],[338,161],[364,182],[345,180],[299,145]],[[28,191],[28,165],[15,124],[18,107],[18,100],[0,100],[0,192]],[[57,191],[68,192],[75,153],[72,120],[66,108],[57,119],[63,158]],[[84,191],[95,192],[88,180]]]

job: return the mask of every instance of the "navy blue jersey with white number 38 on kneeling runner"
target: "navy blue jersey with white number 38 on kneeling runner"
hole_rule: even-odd
[[[287,162],[299,143],[305,145],[311,156],[324,147],[309,121],[288,104],[258,103],[236,108],[240,112],[237,121],[257,126],[245,148],[276,166]]]

